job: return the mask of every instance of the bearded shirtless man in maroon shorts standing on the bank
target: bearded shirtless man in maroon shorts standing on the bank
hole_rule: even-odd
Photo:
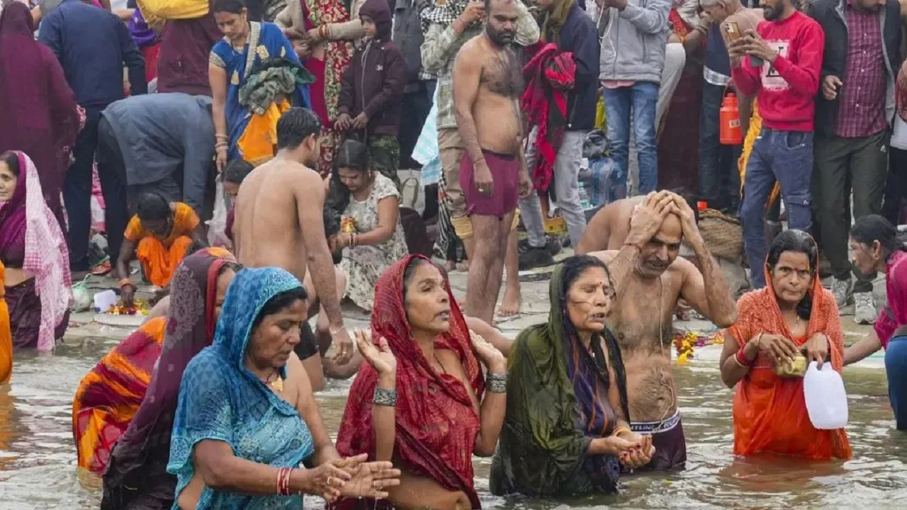
[[[453,64],[453,108],[464,148],[460,185],[473,222],[466,315],[489,324],[513,211],[517,199],[532,192],[522,152],[522,66],[508,47],[519,1],[485,0],[485,31],[463,44]]]

